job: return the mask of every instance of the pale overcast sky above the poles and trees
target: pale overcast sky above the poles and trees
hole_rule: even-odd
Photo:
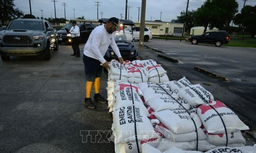
[[[42,13],[40,10],[43,10],[43,18],[52,18],[54,15],[54,2],[53,0],[31,0],[32,14],[35,17],[41,17]],[[97,20],[97,6],[95,2],[100,2],[99,7],[99,19],[101,18],[101,12],[103,13],[103,18],[117,17],[121,19],[120,14],[123,14],[125,19],[125,3],[126,0],[56,0],[56,17],[64,18],[64,6],[63,3],[66,3],[66,19],[74,19],[74,10],[75,9],[75,18],[84,16],[85,19]],[[243,8],[243,0],[237,0],[239,3],[239,12]],[[205,0],[190,0],[189,1],[189,10],[196,10]],[[16,7],[20,8],[24,14],[30,14],[29,0],[14,0]],[[141,0],[128,0],[128,5],[131,6],[129,19],[132,17],[132,21],[138,21],[138,8],[141,7]],[[256,0],[247,0],[246,5],[255,6]],[[187,6],[187,0],[147,0],[146,2],[146,20],[151,19],[152,21],[160,19],[162,21],[171,21],[176,19],[180,15],[181,11],[185,11]],[[161,16],[162,12],[162,16]],[[140,15],[141,16],[141,15]],[[128,17],[128,15],[127,15]]]

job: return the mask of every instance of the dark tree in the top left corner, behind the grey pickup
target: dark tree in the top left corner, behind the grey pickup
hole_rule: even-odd
[[[4,21],[20,18],[23,12],[19,8],[14,8],[14,0],[0,0],[0,20]]]

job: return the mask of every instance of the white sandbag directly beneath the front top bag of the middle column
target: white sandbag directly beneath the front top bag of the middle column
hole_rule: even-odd
[[[197,129],[197,134],[195,131],[185,133],[185,134],[174,134],[171,130],[168,130],[163,124],[158,124],[155,126],[156,130],[163,134],[167,140],[171,142],[187,142],[187,141],[194,141],[194,140],[205,140],[206,135],[201,128]]]

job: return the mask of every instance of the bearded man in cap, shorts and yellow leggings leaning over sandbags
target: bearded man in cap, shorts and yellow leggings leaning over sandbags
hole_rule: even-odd
[[[113,32],[119,28],[119,19],[111,17],[107,23],[96,27],[90,34],[84,48],[83,62],[85,64],[86,79],[86,98],[84,104],[89,108],[95,108],[95,103],[91,100],[91,89],[94,83],[95,96],[94,101],[106,103],[107,100],[100,95],[100,77],[102,74],[102,64],[108,68],[108,62],[104,59],[104,55],[110,45],[117,55],[119,62],[123,63],[120,51],[115,43]]]

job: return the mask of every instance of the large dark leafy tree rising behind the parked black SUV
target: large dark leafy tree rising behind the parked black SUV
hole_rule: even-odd
[[[195,23],[204,26],[204,32],[209,28],[229,27],[234,15],[238,12],[236,0],[206,0],[195,13]]]

